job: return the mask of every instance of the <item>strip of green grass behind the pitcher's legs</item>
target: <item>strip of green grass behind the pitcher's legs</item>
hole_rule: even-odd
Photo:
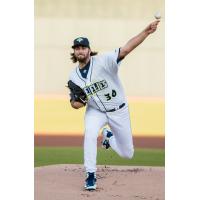
[[[82,147],[35,147],[35,167],[53,164],[83,164]],[[119,157],[112,150],[98,148],[98,165],[164,166],[164,149],[136,149],[133,159]]]

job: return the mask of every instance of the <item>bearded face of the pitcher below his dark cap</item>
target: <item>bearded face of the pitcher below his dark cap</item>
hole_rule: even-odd
[[[90,57],[91,50],[88,47],[77,46],[74,48],[74,55],[79,62],[86,62]]]

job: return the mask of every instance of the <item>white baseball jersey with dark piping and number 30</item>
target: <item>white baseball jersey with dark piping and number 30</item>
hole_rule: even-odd
[[[83,78],[77,66],[69,80],[80,86],[88,97],[87,106],[106,112],[118,109],[126,103],[122,84],[118,77],[120,49],[102,55],[92,56],[87,77]]]

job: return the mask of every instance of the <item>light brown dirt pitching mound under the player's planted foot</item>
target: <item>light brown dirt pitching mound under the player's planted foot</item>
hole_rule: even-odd
[[[35,200],[164,200],[164,167],[98,166],[97,190],[85,191],[83,165],[35,168]]]

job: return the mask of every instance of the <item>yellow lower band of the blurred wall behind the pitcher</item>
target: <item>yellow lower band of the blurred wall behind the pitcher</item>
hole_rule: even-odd
[[[162,99],[129,99],[131,126],[135,136],[164,136]],[[71,108],[64,96],[35,99],[35,134],[83,135],[85,108]]]

